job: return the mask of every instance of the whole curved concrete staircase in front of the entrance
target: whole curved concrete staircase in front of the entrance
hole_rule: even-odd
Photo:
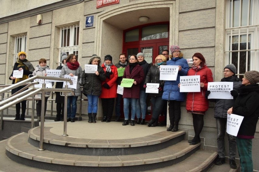
[[[131,139],[63,137],[44,130],[44,149],[38,151],[40,127],[12,136],[6,155],[21,164],[52,171],[208,171],[214,151],[189,145],[185,131],[162,131]]]

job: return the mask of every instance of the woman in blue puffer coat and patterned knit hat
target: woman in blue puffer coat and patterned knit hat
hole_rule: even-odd
[[[181,119],[181,101],[185,101],[185,93],[180,93],[178,84],[180,83],[180,76],[186,76],[189,70],[186,59],[182,58],[180,47],[172,45],[171,60],[166,62],[166,65],[178,66],[178,74],[176,81],[165,81],[164,92],[162,99],[168,101],[168,111],[170,126],[167,131],[178,131],[178,124]]]

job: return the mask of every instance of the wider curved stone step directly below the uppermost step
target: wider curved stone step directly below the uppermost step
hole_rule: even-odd
[[[186,140],[183,140],[159,151],[150,150],[150,153],[118,156],[90,156],[59,153],[48,150],[38,151],[38,147],[28,143],[27,134],[21,133],[9,138],[5,148],[6,154],[10,159],[31,167],[40,167],[46,170],[80,171],[87,169],[93,171],[116,170],[132,172],[152,170],[177,164],[198,151],[199,146],[200,144],[189,145]],[[205,161],[202,160],[200,164],[197,164],[202,156],[196,157],[197,163],[195,163],[195,168],[192,169],[204,169],[205,166],[209,167],[212,159],[214,157],[216,158],[217,154],[215,152],[205,152],[207,152],[207,158],[209,159]]]

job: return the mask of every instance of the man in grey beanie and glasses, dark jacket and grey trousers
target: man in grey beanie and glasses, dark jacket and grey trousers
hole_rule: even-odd
[[[225,163],[225,131],[226,131],[226,122],[227,122],[227,110],[231,108],[234,104],[235,99],[238,96],[239,87],[242,85],[242,82],[237,76],[237,69],[233,64],[226,65],[224,68],[223,74],[224,78],[221,79],[221,82],[233,82],[233,90],[230,92],[234,99],[209,99],[209,101],[215,102],[214,106],[214,117],[216,119],[217,125],[217,145],[218,145],[218,159],[216,160],[216,165],[222,165]],[[208,98],[210,91],[206,91],[205,97]],[[229,164],[231,168],[236,169],[236,137],[230,134],[227,134],[229,142]]]

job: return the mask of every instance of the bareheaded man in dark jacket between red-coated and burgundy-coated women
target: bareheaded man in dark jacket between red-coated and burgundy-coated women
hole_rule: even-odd
[[[119,55],[119,62],[115,65],[117,68],[126,68],[126,66],[129,64],[129,61],[127,60],[125,54],[120,54]],[[122,76],[118,76],[117,78],[117,85],[120,85],[122,81]],[[120,120],[120,103],[122,100],[122,95],[121,94],[117,94],[117,98],[116,98],[116,106],[115,106],[115,111],[116,111],[116,122],[119,122]]]

